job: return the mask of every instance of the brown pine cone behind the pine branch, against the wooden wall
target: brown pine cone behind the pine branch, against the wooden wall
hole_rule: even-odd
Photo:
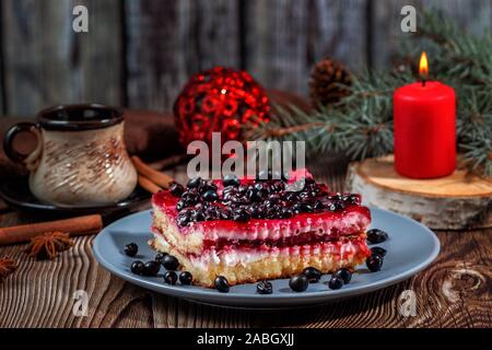
[[[329,105],[350,94],[350,71],[342,63],[325,58],[316,63],[309,79],[311,101],[314,106]]]

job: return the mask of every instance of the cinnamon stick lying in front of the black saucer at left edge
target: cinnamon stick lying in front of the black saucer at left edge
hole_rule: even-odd
[[[98,214],[2,228],[0,229],[0,246],[28,242],[31,238],[50,231],[61,231],[71,236],[80,236],[98,233],[102,229],[103,218]]]

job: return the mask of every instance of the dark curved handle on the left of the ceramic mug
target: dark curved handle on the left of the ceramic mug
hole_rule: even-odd
[[[37,145],[36,149],[30,154],[22,154],[13,148],[13,140],[19,132],[32,132],[36,136]],[[33,171],[37,167],[38,161],[43,151],[43,140],[39,126],[33,122],[19,122],[7,130],[3,138],[3,150],[7,156],[15,163],[24,163],[28,171]]]

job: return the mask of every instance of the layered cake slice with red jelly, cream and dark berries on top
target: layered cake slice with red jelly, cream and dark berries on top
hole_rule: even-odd
[[[301,191],[286,184],[235,177],[173,184],[152,199],[150,244],[177,257],[203,287],[216,276],[233,285],[363,262],[371,213],[360,196],[330,192],[311,177]]]

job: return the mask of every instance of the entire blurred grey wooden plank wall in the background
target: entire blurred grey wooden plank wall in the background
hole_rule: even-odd
[[[75,4],[89,9],[89,33],[71,28]],[[403,4],[491,31],[490,0],[2,0],[0,114],[73,102],[169,109],[191,73],[215,65],[306,94],[324,56],[355,72],[388,67],[411,35]]]

